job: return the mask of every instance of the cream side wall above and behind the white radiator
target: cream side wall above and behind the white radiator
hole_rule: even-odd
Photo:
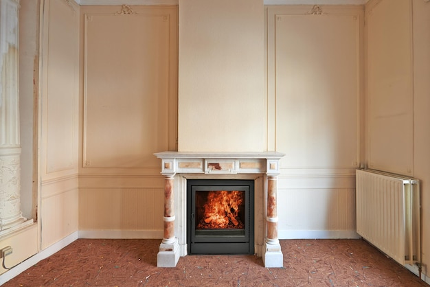
[[[430,3],[372,0],[366,17],[366,158],[372,168],[420,179],[422,273],[430,282]]]

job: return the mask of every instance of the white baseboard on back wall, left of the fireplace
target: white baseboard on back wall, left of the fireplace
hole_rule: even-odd
[[[79,238],[90,239],[159,239],[163,230],[80,230]]]

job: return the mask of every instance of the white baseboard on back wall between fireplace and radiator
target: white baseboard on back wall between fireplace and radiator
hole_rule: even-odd
[[[279,239],[359,239],[359,233],[351,230],[280,230]]]

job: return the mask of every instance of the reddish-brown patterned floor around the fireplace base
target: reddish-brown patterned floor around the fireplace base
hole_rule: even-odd
[[[281,240],[283,268],[253,255],[157,268],[160,242],[79,239],[3,286],[429,286],[363,240]]]

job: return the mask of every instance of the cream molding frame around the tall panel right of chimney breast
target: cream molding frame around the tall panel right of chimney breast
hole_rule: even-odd
[[[282,21],[282,17],[295,17],[294,19],[297,19],[297,17],[304,17],[303,19],[339,19],[339,17],[344,17],[345,21],[348,21],[350,19],[351,21],[354,21],[354,31],[355,31],[355,51],[356,54],[354,56],[354,69],[352,73],[355,73],[357,75],[357,78],[355,78],[356,81],[356,89],[355,91],[352,91],[354,93],[354,99],[349,100],[348,104],[354,105],[354,123],[351,127],[354,131],[350,132],[351,128],[345,128],[343,127],[343,131],[348,131],[348,133],[354,134],[354,141],[355,141],[355,148],[353,153],[350,154],[352,157],[350,158],[350,163],[347,163],[346,160],[341,159],[335,159],[332,160],[330,163],[328,162],[328,159],[324,159],[324,157],[321,157],[321,154],[324,154],[321,152],[320,158],[317,159],[317,161],[321,161],[320,163],[311,163],[311,161],[315,159],[308,159],[306,162],[303,161],[302,163],[287,163],[288,159],[291,157],[288,157],[288,154],[291,153],[291,151],[282,150],[282,146],[280,144],[280,129],[282,128],[283,122],[280,119],[280,116],[285,114],[285,111],[280,110],[281,106],[279,104],[280,102],[280,95],[278,94],[278,82],[280,80],[278,79],[278,50],[276,45],[278,45],[278,38],[276,36],[276,25],[278,21]],[[362,121],[362,111],[361,111],[361,98],[363,95],[363,73],[362,73],[362,60],[361,56],[363,53],[362,48],[362,27],[363,27],[363,8],[352,6],[319,6],[319,5],[300,5],[300,6],[291,6],[291,7],[281,7],[281,6],[274,6],[267,8],[267,19],[268,19],[268,107],[269,107],[269,125],[273,123],[272,126],[268,126],[268,135],[269,135],[269,144],[268,146],[273,146],[275,150],[279,150],[280,152],[285,152],[286,157],[281,161],[282,169],[290,169],[290,168],[302,168],[302,169],[324,169],[324,168],[359,168],[360,166],[360,159],[361,159],[361,121]],[[318,39],[320,35],[318,35]],[[321,38],[324,40],[324,38]],[[315,38],[316,41],[316,38]],[[351,42],[352,43],[352,42]],[[350,58],[352,60],[352,58]],[[326,77],[326,75],[322,75]],[[315,85],[313,81],[310,81],[310,84]],[[339,93],[339,92],[338,92]],[[335,98],[332,99],[334,101]],[[342,106],[340,106],[342,108]],[[321,108],[319,107],[319,111],[321,111]],[[324,115],[324,113],[323,113]],[[339,115],[341,115],[339,113]],[[342,121],[343,119],[336,119],[336,121]],[[287,123],[288,124],[288,123]],[[315,130],[317,132],[317,130]],[[284,132],[286,133],[286,132]],[[310,132],[307,132],[310,133]],[[295,134],[292,133],[288,135],[288,137],[295,137]],[[339,139],[339,136],[337,136]],[[344,137],[343,137],[344,138]],[[328,137],[326,137],[326,140],[328,140]],[[346,142],[347,139],[344,139],[342,142]],[[318,145],[321,144],[317,141],[315,141],[314,148],[317,148]],[[326,143],[328,144],[328,143]],[[332,143],[334,144],[334,143]],[[345,146],[345,145],[344,145]],[[337,147],[341,148],[341,147]],[[348,148],[350,149],[350,148]],[[344,148],[344,152],[348,152],[348,149]],[[331,150],[333,154],[336,154],[334,150]],[[343,157],[344,158],[344,157]],[[338,163],[338,161],[341,161],[341,163]]]

